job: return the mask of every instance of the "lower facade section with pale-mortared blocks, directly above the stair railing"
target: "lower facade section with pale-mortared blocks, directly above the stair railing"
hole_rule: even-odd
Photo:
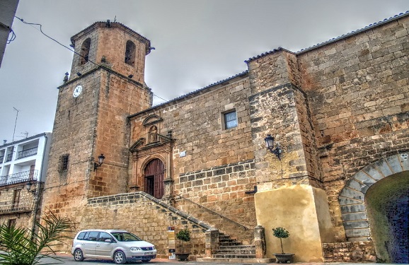
[[[181,174],[175,206],[205,220],[232,238],[253,242],[255,220],[254,161],[221,165]],[[184,194],[189,194],[189,199]]]

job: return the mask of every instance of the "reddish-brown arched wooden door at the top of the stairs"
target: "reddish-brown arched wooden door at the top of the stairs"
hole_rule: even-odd
[[[159,159],[151,160],[145,167],[144,192],[161,199],[164,194],[165,166]]]

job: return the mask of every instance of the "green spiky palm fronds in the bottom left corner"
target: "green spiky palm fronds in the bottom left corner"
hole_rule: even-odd
[[[63,234],[71,232],[73,223],[68,218],[60,218],[53,213],[47,213],[45,218],[35,224],[38,232],[28,228],[8,227],[5,223],[0,225],[0,264],[4,265],[35,265],[40,264],[40,259],[51,257],[55,254],[52,247],[62,243],[68,238]]]

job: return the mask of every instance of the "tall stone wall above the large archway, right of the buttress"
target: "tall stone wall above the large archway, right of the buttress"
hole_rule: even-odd
[[[298,54],[338,240],[338,194],[376,160],[408,150],[409,18]]]

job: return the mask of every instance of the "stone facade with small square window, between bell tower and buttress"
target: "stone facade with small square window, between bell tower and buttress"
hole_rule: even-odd
[[[144,177],[143,166],[159,158],[165,165],[166,178],[173,183],[169,195],[176,196],[175,207],[197,218],[202,216],[202,220],[207,220],[214,211],[253,229],[256,225],[253,196],[245,193],[255,186],[247,100],[250,88],[246,77],[247,73],[241,73],[187,95],[183,100],[132,115],[131,145],[139,139],[149,139],[150,126],[144,126],[144,122],[149,124],[146,122],[149,119],[156,121],[158,134],[166,136],[171,131],[173,146],[169,150],[142,144],[140,151],[135,151],[137,155],[132,157],[129,186],[141,183],[137,179]],[[238,126],[224,129],[222,116],[229,110],[236,111]],[[220,216],[211,219],[214,219],[214,222],[209,220],[212,225],[221,224]],[[233,232],[233,237],[244,237],[248,242],[248,232],[238,232],[243,229],[241,225],[225,232]]]

